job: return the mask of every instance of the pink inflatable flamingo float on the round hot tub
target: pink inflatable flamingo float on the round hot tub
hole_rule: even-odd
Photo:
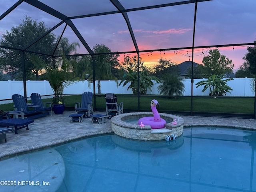
[[[153,117],[142,117],[138,120],[138,124],[141,124],[141,122],[143,122],[144,125],[150,125],[152,129],[164,128],[166,120],[160,118],[160,115],[156,109],[156,106],[159,106],[158,101],[153,99],[150,103],[150,106],[153,112]]]

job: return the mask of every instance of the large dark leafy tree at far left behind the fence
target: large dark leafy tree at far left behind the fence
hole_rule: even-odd
[[[31,42],[42,36],[47,32],[44,22],[37,22],[32,20],[31,17],[25,16],[22,24],[12,26],[11,30],[6,30],[2,35],[0,44],[7,47],[15,47],[24,49]],[[50,53],[50,48],[54,48],[56,37],[53,33],[47,34],[44,38],[33,44],[28,48],[30,51],[37,51],[46,54]],[[12,49],[0,49],[0,68],[6,72],[15,72],[22,74],[22,52]],[[34,68],[32,63],[29,62],[30,54],[25,54],[26,74],[31,72]],[[46,58],[45,58],[46,59]],[[35,70],[36,71],[36,70]]]

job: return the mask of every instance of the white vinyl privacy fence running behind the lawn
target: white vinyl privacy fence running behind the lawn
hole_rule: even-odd
[[[252,78],[234,78],[234,80],[228,81],[228,86],[230,86],[233,91],[227,93],[227,96],[254,96],[250,88],[250,81]],[[194,96],[207,96],[209,95],[209,89],[202,92],[203,86],[196,88],[196,83],[206,79],[194,79],[193,83],[193,95]],[[119,81],[120,82],[120,81]],[[118,82],[118,83],[119,83]],[[185,85],[184,96],[191,95],[191,79],[184,79],[183,83]],[[101,93],[115,93],[115,94],[132,94],[132,90],[126,86],[117,86],[115,81],[100,81]],[[154,83],[152,91],[148,90],[147,94],[159,94],[158,84]],[[26,81],[27,96],[29,97],[31,93],[36,92],[40,95],[52,95],[53,91],[50,87],[48,81]],[[82,94],[83,92],[90,91],[93,92],[93,84],[90,83],[90,88],[88,87],[88,81],[80,81],[76,84],[64,89],[64,94]],[[96,94],[98,93],[97,82],[96,82]],[[0,81],[0,100],[11,99],[13,94],[20,94],[24,96],[23,81]],[[52,97],[52,96],[49,96]],[[0,101],[0,104],[12,102],[10,101]]]

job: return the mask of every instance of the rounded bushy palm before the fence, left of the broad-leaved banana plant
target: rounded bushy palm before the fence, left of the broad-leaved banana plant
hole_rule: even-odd
[[[182,78],[175,74],[166,74],[162,76],[162,83],[158,86],[158,91],[162,95],[183,95],[185,85]]]

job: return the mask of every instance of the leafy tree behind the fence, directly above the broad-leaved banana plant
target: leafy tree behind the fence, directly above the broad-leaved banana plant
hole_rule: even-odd
[[[209,55],[204,56],[202,62],[206,68],[207,76],[212,74],[220,75],[226,72],[231,73],[234,68],[232,60],[229,60],[224,55],[220,55],[220,51],[217,49],[209,50]]]

